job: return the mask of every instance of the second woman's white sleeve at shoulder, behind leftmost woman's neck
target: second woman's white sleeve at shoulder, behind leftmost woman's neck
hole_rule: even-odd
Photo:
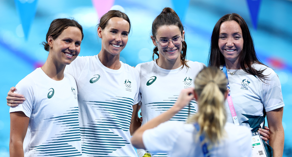
[[[85,67],[85,63],[88,60],[88,57],[89,56],[77,56],[77,58],[73,60],[71,64],[66,65],[64,73],[72,75],[77,82],[83,68]]]

